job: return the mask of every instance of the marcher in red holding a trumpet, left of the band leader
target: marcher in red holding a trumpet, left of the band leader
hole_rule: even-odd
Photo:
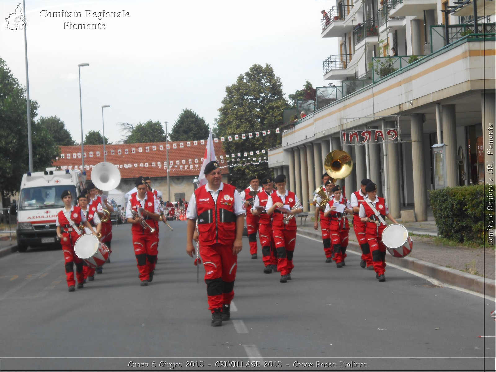
[[[143,177],[139,176],[134,184],[138,191],[129,197],[125,217],[127,222],[132,224],[132,246],[136,256],[141,287],[146,287],[153,280],[153,267],[157,261],[158,253],[157,234],[155,231],[151,232],[146,225],[156,229],[160,214],[157,199],[152,192],[146,190],[147,185]],[[138,208],[143,208],[142,216],[139,215]],[[135,212],[135,217],[132,212]]]

